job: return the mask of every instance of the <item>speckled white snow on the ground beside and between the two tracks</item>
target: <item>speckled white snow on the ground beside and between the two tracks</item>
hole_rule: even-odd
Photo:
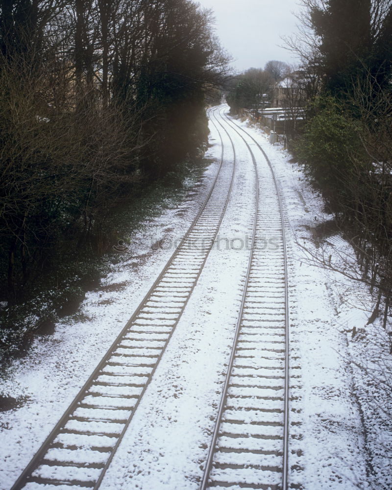
[[[367,322],[368,292],[358,285],[353,289],[337,272],[311,264],[298,245],[314,253],[320,249],[322,239],[317,240],[315,230],[331,218],[323,213],[321,197],[290,163],[287,151],[271,147],[266,135],[246,123],[242,126],[270,157],[287,218],[291,365],[299,374],[291,388],[291,406],[301,420],[292,434],[302,447],[301,464],[293,469],[291,481],[306,490],[391,489],[388,335],[380,340],[380,327],[374,324],[351,339],[350,329]],[[88,320],[69,324],[63,319],[55,334],[37,339],[28,356],[14,363],[9,379],[1,382],[2,394],[25,397],[19,408],[0,413],[1,489],[12,486],[171,256],[170,241],[179,239],[196,215],[220,158],[213,126],[211,131],[213,146],[207,156],[215,161],[197,192],[180,209],[163,209],[132,237],[129,255],[104,280],[102,290],[87,295],[81,310]],[[220,247],[210,253],[105,475],[104,490],[198,488],[248,257],[246,250],[226,249],[225,239],[244,239],[252,220],[253,167],[241,138],[234,139],[238,168]],[[224,144],[231,158],[226,137]],[[150,235],[155,242],[164,239],[164,248],[151,249]],[[326,244],[325,250],[337,260],[342,249],[352,255],[342,239],[328,241],[332,245]],[[384,385],[374,383],[372,376],[384,376]]]

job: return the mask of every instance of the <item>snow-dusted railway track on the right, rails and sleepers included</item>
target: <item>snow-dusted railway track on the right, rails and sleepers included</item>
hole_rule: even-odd
[[[289,301],[282,202],[263,149],[227,117],[225,123],[242,138],[253,160],[257,209],[233,348],[200,490],[286,490]],[[261,158],[255,157],[251,145]]]

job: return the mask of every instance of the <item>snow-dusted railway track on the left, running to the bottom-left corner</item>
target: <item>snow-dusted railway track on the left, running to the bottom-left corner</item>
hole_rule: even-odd
[[[210,111],[217,129],[222,110]],[[189,230],[11,490],[98,489],[214,245],[235,172],[234,146],[224,163],[221,143],[219,170]]]

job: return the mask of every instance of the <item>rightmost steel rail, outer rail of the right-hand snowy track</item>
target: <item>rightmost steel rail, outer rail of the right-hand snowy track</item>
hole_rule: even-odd
[[[285,336],[285,395],[284,395],[284,425],[283,425],[283,473],[282,473],[282,490],[287,490],[289,485],[289,427],[290,427],[290,417],[289,417],[289,391],[290,391],[290,309],[289,309],[289,282],[288,282],[288,260],[287,260],[287,240],[285,232],[285,222],[284,222],[284,212],[283,212],[283,202],[282,196],[280,195],[278,182],[276,175],[268,158],[267,153],[260,146],[260,144],[251,136],[244,128],[239,124],[235,123],[233,120],[227,117],[226,119],[229,123],[234,124],[238,129],[241,129],[260,149],[264,158],[266,159],[271,173],[272,178],[275,183],[276,193],[279,201],[280,216],[282,221],[282,245],[283,245],[283,255],[284,255],[284,282],[285,282],[285,324],[286,324],[286,336]],[[244,140],[245,141],[245,140]]]

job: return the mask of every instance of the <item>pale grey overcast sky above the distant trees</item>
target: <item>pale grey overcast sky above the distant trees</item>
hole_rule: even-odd
[[[212,8],[216,33],[221,45],[229,51],[237,71],[264,68],[269,60],[296,63],[293,54],[283,45],[280,36],[295,32],[298,0],[196,0]]]

